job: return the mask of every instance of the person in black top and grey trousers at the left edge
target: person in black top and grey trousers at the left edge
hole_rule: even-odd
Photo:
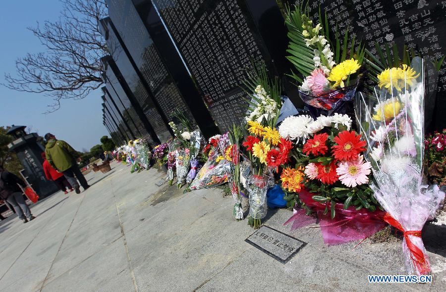
[[[36,217],[31,214],[31,210],[23,198],[23,193],[19,185],[23,188],[26,187],[26,184],[15,174],[3,170],[0,167],[0,197],[11,204],[18,217],[23,223],[26,223]]]

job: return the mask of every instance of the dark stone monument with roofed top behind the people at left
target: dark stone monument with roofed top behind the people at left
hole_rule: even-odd
[[[11,135],[14,141],[8,144],[8,149],[17,154],[24,168],[23,176],[37,195],[44,198],[55,193],[58,188],[55,183],[45,178],[41,157],[45,148],[38,142],[39,135],[37,133],[26,134],[25,128],[26,126],[12,125],[6,134]]]

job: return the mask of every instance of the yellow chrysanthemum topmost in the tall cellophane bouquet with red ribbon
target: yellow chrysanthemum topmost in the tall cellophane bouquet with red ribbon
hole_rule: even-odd
[[[377,76],[378,86],[387,88],[389,92],[391,92],[392,88],[401,91],[406,86],[412,85],[413,79],[418,76],[420,76],[420,73],[417,74],[415,70],[407,65],[402,65],[402,68],[387,68]]]

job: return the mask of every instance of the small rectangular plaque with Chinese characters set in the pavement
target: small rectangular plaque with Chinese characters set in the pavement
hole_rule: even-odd
[[[283,264],[306,244],[265,225],[251,234],[245,242],[254,245]]]

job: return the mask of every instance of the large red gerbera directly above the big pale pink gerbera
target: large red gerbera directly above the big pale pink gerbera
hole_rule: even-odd
[[[361,141],[361,135],[356,135],[355,131],[342,131],[335,137],[333,154],[338,160],[356,159],[358,154],[365,151],[365,141]]]

